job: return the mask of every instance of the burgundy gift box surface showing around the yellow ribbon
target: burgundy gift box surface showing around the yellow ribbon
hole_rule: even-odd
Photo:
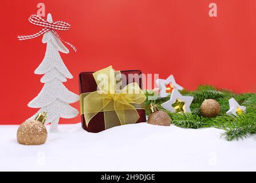
[[[94,80],[93,73],[94,72],[82,72],[79,74],[80,94],[94,92],[97,90],[97,83]],[[126,83],[139,81],[139,83],[137,82],[137,84],[141,88],[142,86],[141,77],[135,78],[135,76],[133,76],[133,78],[128,78],[128,74],[136,74],[137,77],[139,77],[139,75],[141,74],[140,70],[124,70],[124,71],[121,71],[121,74],[122,75],[124,74],[126,76],[126,78],[122,77],[123,83],[124,83],[124,79],[127,79]],[[136,123],[146,122],[145,110],[137,109],[137,113],[139,114],[140,118]],[[87,132],[97,133],[105,130],[104,112],[99,112],[98,114],[96,114],[96,116],[94,116],[92,120],[90,120],[88,126],[86,126],[84,114],[81,114],[81,121],[82,121],[82,128],[85,129]]]

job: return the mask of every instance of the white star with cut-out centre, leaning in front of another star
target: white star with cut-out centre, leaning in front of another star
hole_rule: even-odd
[[[162,107],[166,110],[168,110],[169,112],[176,112],[176,107],[173,107],[172,105],[175,104],[176,100],[180,101],[180,102],[184,102],[184,105],[182,107],[183,112],[186,113],[191,113],[190,110],[190,105],[192,103],[192,101],[194,100],[194,97],[192,96],[182,96],[182,94],[179,93],[178,89],[174,89],[172,90],[172,94],[170,97],[170,100],[164,102],[162,104]]]

